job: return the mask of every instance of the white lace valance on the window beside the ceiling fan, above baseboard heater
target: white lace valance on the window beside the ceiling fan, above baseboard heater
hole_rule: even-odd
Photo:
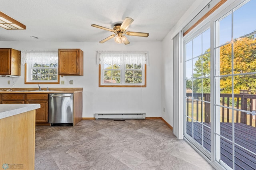
[[[98,64],[147,64],[147,52],[98,51]]]

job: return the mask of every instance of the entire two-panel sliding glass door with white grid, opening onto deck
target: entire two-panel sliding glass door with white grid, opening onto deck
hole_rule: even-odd
[[[256,0],[230,4],[184,37],[184,138],[219,167],[250,170],[256,167]]]

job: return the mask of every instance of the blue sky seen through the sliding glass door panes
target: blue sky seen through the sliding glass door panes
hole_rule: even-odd
[[[216,47],[232,40],[232,15],[227,14],[220,18],[220,40]],[[218,22],[218,21],[217,21]],[[234,8],[233,12],[233,38],[239,38],[256,31],[256,0],[250,0],[242,7]],[[193,47],[192,47],[193,42]],[[210,29],[206,30],[186,44],[186,60],[204,53],[210,48]],[[193,51],[193,52],[192,52]],[[193,59],[193,63],[196,59]],[[187,61],[186,77],[192,76],[192,60]]]

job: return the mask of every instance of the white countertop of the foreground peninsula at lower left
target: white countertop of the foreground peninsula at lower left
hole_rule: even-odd
[[[40,104],[0,104],[0,119],[39,109]]]

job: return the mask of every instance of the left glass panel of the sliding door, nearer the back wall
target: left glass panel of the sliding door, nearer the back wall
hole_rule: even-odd
[[[210,28],[209,24],[185,45],[186,114],[185,135],[208,153],[210,130]]]

